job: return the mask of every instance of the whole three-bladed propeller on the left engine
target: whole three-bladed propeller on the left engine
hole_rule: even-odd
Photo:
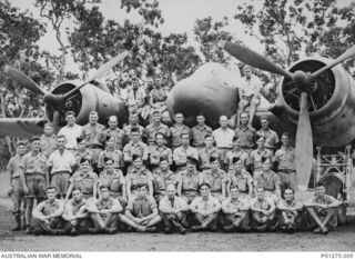
[[[80,89],[91,81],[95,80],[98,77],[102,76],[104,72],[113,68],[115,64],[118,64],[120,61],[122,61],[126,56],[129,54],[128,51],[123,51],[122,53],[115,56],[111,60],[109,60],[106,63],[104,63],[99,70],[97,70],[92,76],[90,76],[84,82],[79,84],[77,88],[70,90],[69,92],[64,94],[53,94],[51,92],[47,92],[43,89],[40,88],[32,79],[30,79],[28,76],[19,71],[18,69],[6,66],[4,67],[4,73],[12,78],[14,81],[17,81],[20,86],[23,88],[33,91],[36,93],[44,96],[43,100],[47,104],[51,106],[54,110],[53,112],[53,126],[55,129],[59,128],[59,120],[60,120],[60,111],[63,110],[65,107],[65,102],[73,98],[77,93],[79,93]]]

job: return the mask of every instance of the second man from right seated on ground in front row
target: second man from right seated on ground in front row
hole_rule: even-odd
[[[280,227],[284,232],[294,232],[300,227],[302,203],[295,201],[294,190],[285,189],[285,199],[280,200],[277,209],[280,210]]]

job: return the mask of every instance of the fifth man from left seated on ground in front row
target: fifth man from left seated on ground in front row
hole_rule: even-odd
[[[183,198],[176,196],[174,185],[166,187],[166,196],[161,199],[159,210],[163,217],[165,233],[171,233],[174,229],[182,235],[186,233],[189,206]]]

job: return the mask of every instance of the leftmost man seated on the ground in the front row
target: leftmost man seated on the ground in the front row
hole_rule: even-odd
[[[48,200],[42,201],[33,211],[36,220],[34,235],[63,235],[64,221],[61,218],[64,211],[64,203],[57,199],[57,189],[53,186],[47,187]]]

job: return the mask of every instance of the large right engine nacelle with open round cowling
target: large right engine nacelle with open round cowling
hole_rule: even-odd
[[[290,71],[316,71],[329,63],[325,58],[310,58],[296,62]],[[284,78],[278,86],[283,119],[298,120],[300,91]],[[341,147],[355,139],[355,82],[341,67],[336,66],[315,79],[308,98],[310,119],[314,142],[326,147]]]

